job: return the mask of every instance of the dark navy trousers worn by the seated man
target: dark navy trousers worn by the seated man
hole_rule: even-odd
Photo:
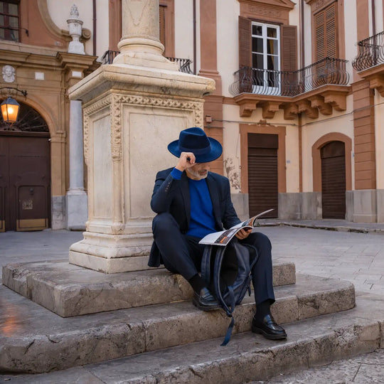
[[[189,280],[201,272],[201,258],[204,245],[198,244],[198,238],[183,235],[178,223],[170,213],[156,215],[152,224],[154,241],[161,253],[161,260],[167,270],[179,273]],[[270,239],[262,233],[251,233],[240,240],[257,248],[258,260],[252,268],[252,283],[255,288],[255,302],[260,304],[269,300],[274,302],[272,285],[272,245]]]

